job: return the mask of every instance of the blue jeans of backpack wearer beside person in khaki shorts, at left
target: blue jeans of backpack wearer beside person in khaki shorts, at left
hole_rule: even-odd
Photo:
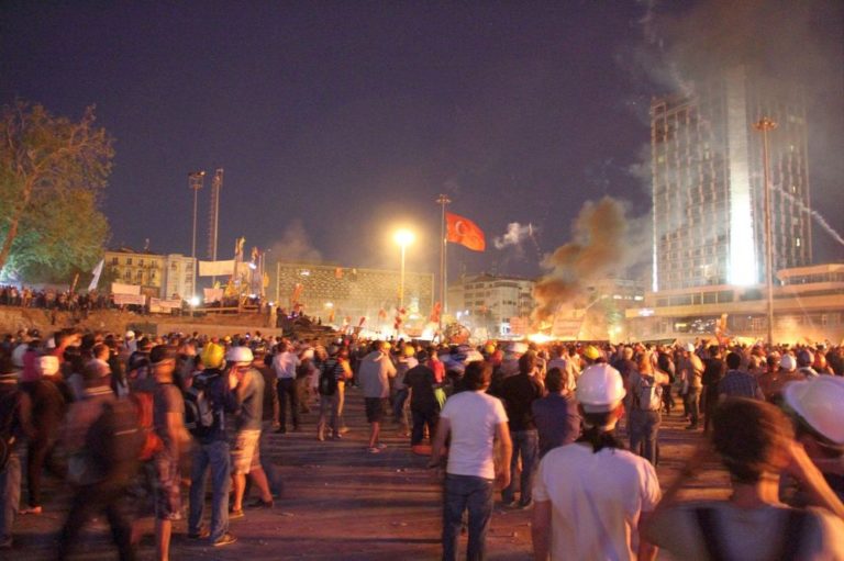
[[[206,480],[211,468],[211,541],[229,531],[229,487],[231,465],[229,442],[215,440],[211,444],[193,444],[190,468],[190,515],[188,532],[199,534],[202,527],[202,510],[206,506]]]

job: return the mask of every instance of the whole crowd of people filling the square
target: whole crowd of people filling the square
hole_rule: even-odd
[[[356,386],[369,425],[362,452],[385,450],[391,422],[442,476],[443,559],[457,559],[464,529],[467,558],[485,559],[497,489],[503,508],[533,510],[540,560],[655,559],[657,547],[691,559],[844,559],[843,357],[830,345],[476,347],[21,330],[0,341],[0,548],[12,545],[15,515],[43,513],[45,470],[74,489],[59,559],[96,514],[120,558],[134,559],[133,520],[145,508],[156,559],[169,559],[182,512],[188,538],[234,543],[230,520],[277,498],[259,453],[264,429],[301,431],[313,407],[313,437],[343,439]],[[701,433],[665,496],[655,469],[664,415]],[[732,497],[678,502],[719,457]]]

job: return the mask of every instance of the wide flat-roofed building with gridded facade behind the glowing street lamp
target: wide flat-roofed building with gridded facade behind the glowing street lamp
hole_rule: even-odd
[[[367,327],[392,325],[399,300],[401,274],[395,270],[342,267],[337,263],[277,262],[275,298],[280,310],[295,304],[323,323],[342,325],[346,318],[358,325],[366,317]],[[407,321],[426,323],[433,306],[433,273],[404,273],[404,308]]]

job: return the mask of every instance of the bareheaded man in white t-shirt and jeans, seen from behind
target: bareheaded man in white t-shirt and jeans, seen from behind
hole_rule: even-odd
[[[492,377],[492,366],[469,362],[463,375],[466,391],[452,395],[440,413],[431,463],[438,468],[445,440],[452,435],[443,497],[443,560],[457,559],[463,512],[469,512],[467,560],[486,558],[486,537],[492,517],[496,462],[495,440],[500,440],[499,483],[510,483],[512,444],[507,414],[501,402],[486,393]]]

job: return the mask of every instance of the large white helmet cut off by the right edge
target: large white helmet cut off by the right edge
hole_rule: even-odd
[[[782,397],[810,427],[832,442],[844,446],[844,379],[822,375],[806,381],[789,382]]]

